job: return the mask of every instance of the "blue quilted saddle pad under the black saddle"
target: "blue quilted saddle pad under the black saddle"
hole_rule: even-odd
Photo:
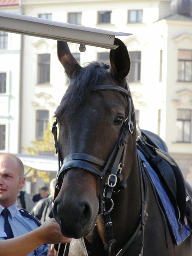
[[[175,239],[175,243],[177,245],[180,245],[188,236],[190,236],[191,232],[186,228],[185,225],[182,225],[182,232],[179,233],[179,224],[178,220],[176,218],[175,210],[173,208],[173,205],[167,196],[167,193],[165,191],[164,185],[162,184],[161,180],[159,179],[156,172],[153,170],[153,168],[150,166],[148,161],[145,159],[143,154],[138,150],[139,156],[141,160],[145,162],[147,172],[156,188],[156,192],[158,193],[158,196],[162,202],[162,205],[164,207],[164,213],[166,213],[167,220],[169,222],[170,231],[173,234],[173,237]],[[150,200],[150,198],[149,198]],[[189,226],[187,225],[189,228]]]

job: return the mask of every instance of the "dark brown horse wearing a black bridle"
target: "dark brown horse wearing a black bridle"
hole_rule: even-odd
[[[55,111],[62,166],[53,216],[64,236],[84,238],[86,254],[71,255],[191,256],[192,236],[174,242],[142,171],[126,81],[131,61],[125,44],[117,38],[114,44],[110,66],[93,61],[81,67],[68,44],[57,42],[70,84]]]

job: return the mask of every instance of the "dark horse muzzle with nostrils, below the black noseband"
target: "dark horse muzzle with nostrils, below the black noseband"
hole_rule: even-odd
[[[77,172],[81,172],[78,175],[82,180],[76,179]],[[99,200],[94,182],[86,182],[86,175],[94,179],[94,176],[82,170],[68,171],[54,200],[53,216],[64,236],[76,239],[84,237],[92,232],[97,222]]]

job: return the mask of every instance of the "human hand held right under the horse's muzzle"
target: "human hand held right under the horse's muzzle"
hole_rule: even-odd
[[[63,236],[55,219],[45,221],[39,228],[44,244],[68,244],[71,238]]]

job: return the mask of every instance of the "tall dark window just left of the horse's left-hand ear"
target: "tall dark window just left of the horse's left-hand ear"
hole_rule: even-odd
[[[38,54],[38,84],[50,82],[50,54]]]

